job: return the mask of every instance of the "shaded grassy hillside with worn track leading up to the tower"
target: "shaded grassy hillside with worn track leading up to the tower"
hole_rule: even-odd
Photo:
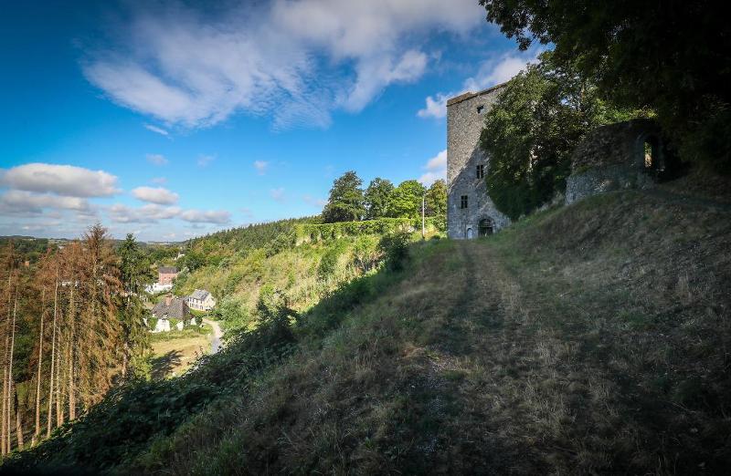
[[[731,207],[686,181],[414,243],[5,469],[723,473]]]

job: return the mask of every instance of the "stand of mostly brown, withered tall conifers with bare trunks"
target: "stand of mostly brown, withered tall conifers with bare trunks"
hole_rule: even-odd
[[[132,236],[115,250],[101,225],[37,259],[36,247],[15,241],[0,253],[6,454],[48,438],[132,372],[145,346],[139,296],[150,271]]]

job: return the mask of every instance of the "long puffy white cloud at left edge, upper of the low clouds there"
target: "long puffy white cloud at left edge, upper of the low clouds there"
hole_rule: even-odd
[[[111,173],[49,163],[13,167],[0,177],[0,185],[67,197],[104,197],[119,192],[116,188],[117,177]]]

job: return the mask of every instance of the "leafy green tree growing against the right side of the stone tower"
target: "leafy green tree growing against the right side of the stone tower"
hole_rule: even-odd
[[[609,107],[596,86],[546,52],[511,79],[485,119],[487,189],[515,220],[566,189],[571,153],[589,130],[640,113]]]

